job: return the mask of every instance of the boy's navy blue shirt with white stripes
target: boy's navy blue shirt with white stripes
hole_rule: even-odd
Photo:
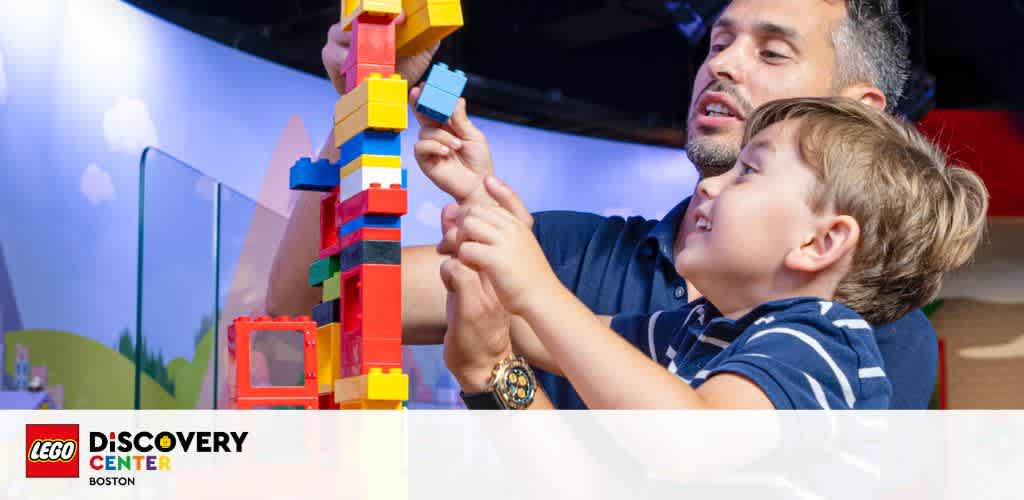
[[[699,298],[652,315],[620,315],[611,328],[693,388],[742,375],[777,410],[884,410],[892,388],[871,327],[830,300],[795,297],[730,320]]]

